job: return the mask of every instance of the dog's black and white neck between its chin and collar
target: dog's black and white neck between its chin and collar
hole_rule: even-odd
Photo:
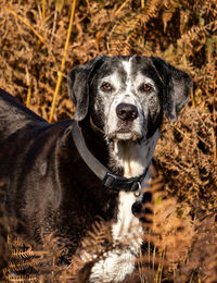
[[[112,142],[106,143],[104,136],[97,131],[89,119],[82,123],[82,135],[91,153],[114,174],[125,177],[139,176],[149,167],[158,139],[158,130],[141,143]],[[97,136],[92,143],[92,136]]]

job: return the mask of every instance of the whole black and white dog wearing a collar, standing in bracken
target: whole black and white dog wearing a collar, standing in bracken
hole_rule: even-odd
[[[21,220],[16,232],[37,241],[54,232],[72,255],[101,217],[114,242],[131,242],[95,263],[90,282],[122,282],[141,244],[133,204],[149,179],[163,113],[175,122],[191,86],[159,58],[97,57],[69,73],[75,119],[55,124],[1,90],[0,181],[8,213]]]

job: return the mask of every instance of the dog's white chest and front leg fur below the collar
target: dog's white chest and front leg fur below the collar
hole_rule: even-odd
[[[133,193],[119,192],[117,219],[112,224],[113,250],[92,268],[94,283],[122,282],[135,269],[135,259],[142,243],[142,227],[131,212],[136,201]]]

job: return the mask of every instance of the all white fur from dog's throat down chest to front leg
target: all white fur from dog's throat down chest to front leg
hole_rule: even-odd
[[[138,176],[144,172],[151,162],[157,139],[158,131],[141,145],[129,146],[127,149],[115,145],[113,156],[123,165],[126,177]],[[123,247],[108,251],[105,259],[93,266],[90,282],[122,282],[127,274],[132,273],[142,243],[142,226],[131,212],[135,201],[133,193],[119,193],[117,221],[112,225],[112,234],[114,245],[122,243]]]

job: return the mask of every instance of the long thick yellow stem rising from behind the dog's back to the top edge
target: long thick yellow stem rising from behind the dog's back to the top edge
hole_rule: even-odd
[[[62,82],[62,77],[63,77],[63,71],[65,69],[65,60],[66,60],[68,44],[69,44],[69,39],[71,39],[71,32],[72,32],[74,15],[75,15],[75,7],[76,7],[76,0],[74,0],[73,4],[72,4],[71,21],[69,21],[69,25],[68,25],[68,29],[67,29],[67,37],[66,37],[65,47],[64,47],[61,71],[59,72],[59,75],[58,75],[58,83],[56,83],[56,86],[55,86],[55,91],[54,91],[54,95],[53,95],[53,101],[52,101],[52,107],[51,107],[51,114],[50,114],[50,118],[49,118],[50,123],[53,120],[53,113],[54,113],[54,110],[55,110],[55,101],[56,101],[56,97],[58,97],[59,89],[60,89],[61,82]]]

